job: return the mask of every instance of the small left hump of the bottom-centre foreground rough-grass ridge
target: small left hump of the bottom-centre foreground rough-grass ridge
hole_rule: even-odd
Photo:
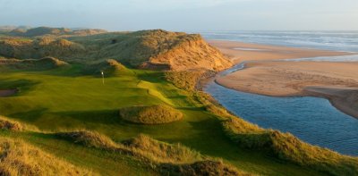
[[[86,147],[96,148],[115,148],[116,144],[107,136],[101,135],[98,132],[91,132],[87,130],[60,132],[56,133],[60,138],[67,138],[74,143],[81,144]]]

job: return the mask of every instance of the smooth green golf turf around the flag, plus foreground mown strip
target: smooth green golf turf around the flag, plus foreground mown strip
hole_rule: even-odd
[[[182,143],[203,155],[223,158],[246,172],[320,174],[279,162],[268,154],[237,147],[226,137],[217,118],[195,104],[189,93],[168,83],[162,72],[130,70],[130,74],[106,78],[103,85],[100,75],[81,75],[80,70],[81,65],[74,65],[53,71],[1,72],[0,89],[19,88],[21,92],[0,98],[0,114],[35,125],[39,130],[97,130],[115,141],[144,133],[169,143]],[[140,125],[124,122],[118,115],[121,107],[158,104],[174,106],[183,113],[183,120]],[[5,131],[0,134],[12,135]],[[23,133],[15,136],[95,172],[115,174],[123,169],[123,173],[151,173],[123,155],[73,146],[51,135]]]

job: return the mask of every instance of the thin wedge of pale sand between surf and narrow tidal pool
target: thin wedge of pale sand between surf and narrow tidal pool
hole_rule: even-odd
[[[294,48],[286,46],[268,46],[247,44],[234,41],[209,40],[211,46],[217,47],[230,57],[234,63],[252,60],[294,59],[303,57],[349,55],[351,53],[315,49]]]

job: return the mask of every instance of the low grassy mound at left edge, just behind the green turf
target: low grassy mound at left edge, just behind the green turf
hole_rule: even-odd
[[[55,69],[68,65],[54,57],[44,57],[42,59],[0,59],[0,69],[8,70],[30,70],[30,71],[44,71]]]

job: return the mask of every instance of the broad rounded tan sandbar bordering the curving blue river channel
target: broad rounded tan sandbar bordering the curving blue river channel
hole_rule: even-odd
[[[358,117],[358,63],[252,62],[216,81],[266,96],[323,96]]]

